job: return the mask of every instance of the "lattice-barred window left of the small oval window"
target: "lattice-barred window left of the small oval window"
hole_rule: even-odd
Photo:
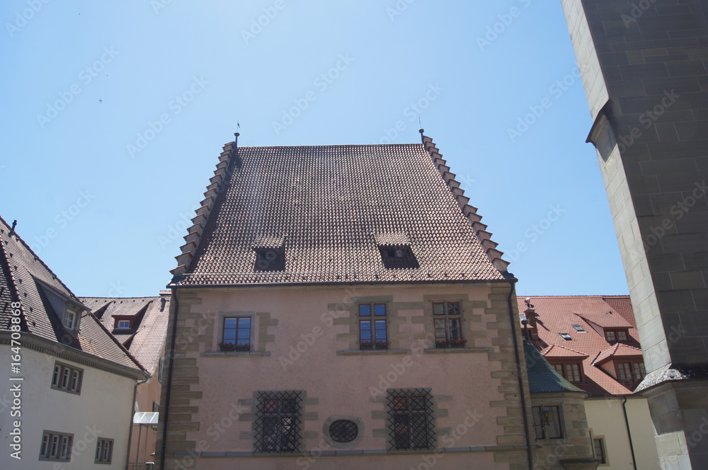
[[[302,397],[299,391],[259,391],[256,452],[299,452]]]

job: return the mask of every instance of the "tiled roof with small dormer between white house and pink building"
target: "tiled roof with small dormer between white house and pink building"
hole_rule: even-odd
[[[167,334],[167,319],[170,309],[169,291],[159,297],[80,297],[101,319],[105,328],[113,330],[115,316],[133,316],[137,325],[130,333],[114,334],[140,364],[151,374],[162,355]],[[164,299],[164,303],[163,303]]]

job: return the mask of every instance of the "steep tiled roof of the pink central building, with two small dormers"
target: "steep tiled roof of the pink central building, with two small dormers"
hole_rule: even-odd
[[[182,285],[503,280],[497,269],[506,271],[501,252],[425,139],[426,145],[237,151],[227,144],[177,257],[176,280]],[[256,269],[254,248],[279,243],[285,269]],[[386,268],[382,243],[410,246],[415,262]]]

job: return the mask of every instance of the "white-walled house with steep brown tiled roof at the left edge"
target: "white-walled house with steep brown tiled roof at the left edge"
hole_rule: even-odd
[[[3,468],[125,469],[150,376],[1,218],[0,306]]]

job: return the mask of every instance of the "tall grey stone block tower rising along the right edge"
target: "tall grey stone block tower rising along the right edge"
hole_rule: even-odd
[[[663,469],[708,468],[708,3],[563,0]]]

